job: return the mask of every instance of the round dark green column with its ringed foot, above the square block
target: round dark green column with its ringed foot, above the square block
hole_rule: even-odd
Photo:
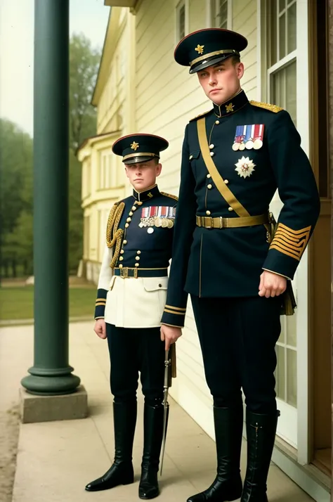
[[[34,366],[31,394],[75,392],[68,360],[69,0],[34,2]]]

